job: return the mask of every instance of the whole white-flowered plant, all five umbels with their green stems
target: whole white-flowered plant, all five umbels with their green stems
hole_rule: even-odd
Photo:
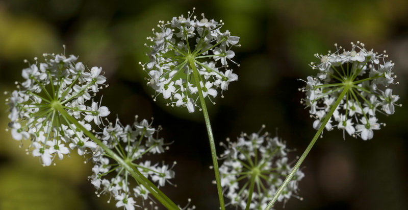
[[[221,209],[231,205],[245,209],[270,209],[275,201],[287,202],[298,196],[298,182],[304,177],[299,167],[311,148],[327,131],[338,128],[363,140],[373,138],[373,130],[385,126],[377,123],[376,113],[395,112],[399,97],[389,87],[395,84],[394,63],[388,56],[366,50],[363,43],[351,43],[351,50],[339,47],[327,55],[316,54],[318,69],[308,77],[306,93],[301,103],[310,108],[317,129],[310,145],[292,167],[287,154],[290,150],[278,137],[269,133],[242,133],[236,142],[221,143],[224,152],[217,156],[215,140],[206,107],[206,98],[213,99],[228,89],[238,75],[228,64],[235,63],[233,46],[239,37],[228,30],[221,31],[223,22],[188,13],[159,21],[159,32],[148,39],[149,61],[141,64],[149,79],[147,85],[155,91],[154,99],[162,95],[168,105],[202,111],[209,136],[211,155]],[[9,95],[9,129],[21,146],[29,139],[28,154],[39,157],[43,166],[55,164],[73,150],[87,157],[94,166],[89,176],[98,196],[110,195],[116,207],[133,210],[136,207],[159,208],[156,200],[168,209],[194,209],[176,205],[160,187],[172,184],[173,165],[152,162],[146,156],[168,150],[168,143],[159,137],[162,129],[153,128],[137,116],[132,125],[115,123],[106,117],[108,107],[94,101],[105,85],[101,67],[86,67],[78,57],[64,54],[44,54],[44,61],[35,58],[22,70],[23,82]],[[382,62],[381,62],[382,60]],[[237,64],[238,65],[238,64]],[[199,100],[199,102],[198,102]],[[92,125],[94,124],[94,128]],[[222,161],[218,166],[218,161]],[[134,180],[134,181],[132,181]],[[154,199],[154,198],[155,199]],[[224,203],[224,197],[228,202]],[[137,203],[141,200],[141,203]]]

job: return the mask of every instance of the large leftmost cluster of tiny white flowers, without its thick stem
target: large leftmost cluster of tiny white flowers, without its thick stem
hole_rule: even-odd
[[[70,150],[84,155],[87,148],[96,149],[59,110],[68,112],[87,130],[91,130],[89,122],[99,125],[110,112],[93,100],[90,106],[85,105],[106,81],[100,67],[89,70],[73,55],[43,56],[44,62],[35,58],[34,64],[22,70],[25,81],[16,82],[17,90],[5,94],[10,95],[6,103],[12,137],[18,141],[30,138],[27,153],[41,157],[42,164],[49,166],[56,156],[62,159]]]

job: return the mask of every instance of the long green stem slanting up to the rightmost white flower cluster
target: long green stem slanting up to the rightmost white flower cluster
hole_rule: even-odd
[[[268,203],[266,206],[266,210],[272,208],[273,204],[276,202],[277,198],[279,195],[282,194],[283,190],[286,188],[286,186],[289,184],[289,182],[292,180],[292,177],[296,174],[296,171],[299,169],[300,165],[302,164],[304,158],[309,154],[310,150],[312,149],[313,145],[316,143],[317,139],[319,138],[320,134],[322,133],[324,127],[326,126],[327,122],[330,120],[331,115],[333,115],[333,112],[337,109],[339,106],[341,100],[344,98],[348,90],[352,87],[352,84],[345,84],[343,91],[341,92],[339,98],[335,102],[333,106],[331,106],[330,111],[327,113],[325,116],[322,125],[320,126],[319,130],[317,130],[315,136],[313,137],[312,141],[310,142],[309,146],[304,150],[302,156],[300,156],[299,160],[297,160],[296,165],[293,167],[292,171],[289,173],[289,175],[286,177],[285,181],[282,183],[282,185],[279,187],[279,189],[276,191],[275,195],[273,196],[272,200]]]

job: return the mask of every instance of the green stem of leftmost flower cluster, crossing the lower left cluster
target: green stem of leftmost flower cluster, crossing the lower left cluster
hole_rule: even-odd
[[[77,128],[81,129],[81,131],[86,136],[91,138],[92,141],[95,142],[95,144],[97,144],[100,148],[102,148],[105,153],[107,153],[110,157],[116,160],[118,164],[120,164],[126,171],[128,171],[133,178],[135,178],[139,183],[141,183],[151,193],[151,195],[155,196],[155,198],[158,199],[159,202],[161,202],[166,208],[180,209],[163,192],[161,192],[155,184],[151,183],[145,176],[143,176],[143,174],[139,172],[139,170],[136,167],[132,166],[131,162],[126,162],[125,160],[123,160],[114,151],[112,151],[106,145],[104,145],[95,135],[93,135],[92,132],[88,131],[80,123],[78,123],[78,120],[74,119],[71,115],[69,115],[61,104],[54,104],[53,108],[57,110],[61,115],[63,115],[64,118],[66,118],[69,122],[74,124]]]

